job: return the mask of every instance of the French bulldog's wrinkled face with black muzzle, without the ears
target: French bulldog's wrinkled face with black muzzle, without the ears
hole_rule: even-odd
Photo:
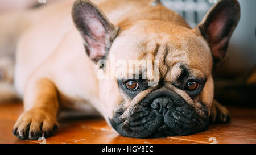
[[[158,60],[159,66],[157,85],[148,86],[148,79],[123,79],[122,73],[104,81],[106,100],[112,100],[108,117],[121,135],[187,135],[207,127],[213,100],[212,56],[199,32],[164,22],[138,22],[113,42],[108,55],[111,69],[115,64],[110,57],[127,64]],[[133,65],[134,70],[138,67]]]

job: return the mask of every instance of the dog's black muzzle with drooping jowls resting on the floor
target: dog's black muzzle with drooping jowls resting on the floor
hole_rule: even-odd
[[[201,118],[174,91],[156,90],[148,94],[133,110],[115,112],[110,123],[122,136],[137,138],[190,135],[208,127],[208,118]],[[207,110],[203,110],[207,116]]]

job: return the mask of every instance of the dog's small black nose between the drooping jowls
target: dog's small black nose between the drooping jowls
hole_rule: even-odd
[[[171,98],[168,97],[158,97],[154,99],[151,104],[151,107],[155,110],[159,110],[159,112],[163,112],[164,109],[171,109],[174,102]]]

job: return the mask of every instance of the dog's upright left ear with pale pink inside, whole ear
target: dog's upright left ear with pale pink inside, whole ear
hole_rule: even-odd
[[[110,23],[104,13],[88,0],[74,2],[72,18],[84,38],[89,58],[96,62],[103,59],[119,28]]]

